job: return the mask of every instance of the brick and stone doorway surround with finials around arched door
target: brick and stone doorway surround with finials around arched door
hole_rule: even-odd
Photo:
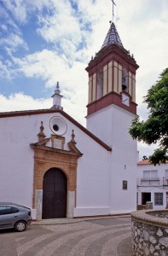
[[[72,140],[67,143],[69,151],[46,146],[46,143],[49,143],[50,140],[52,141],[56,136],[44,137],[43,122],[41,122],[38,143],[30,145],[34,150],[32,208],[37,210],[37,219],[42,219],[43,176],[50,168],[58,168],[67,176],[67,218],[73,218],[73,209],[76,206],[78,157],[83,154],[76,148],[73,131]],[[64,140],[62,137],[59,138],[65,142],[65,138]]]

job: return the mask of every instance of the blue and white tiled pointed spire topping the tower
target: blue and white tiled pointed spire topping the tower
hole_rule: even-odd
[[[104,43],[101,46],[101,49],[111,44],[117,44],[118,46],[123,47],[121,39],[119,38],[119,33],[117,32],[117,29],[113,22],[107,32],[107,36],[104,40]]]

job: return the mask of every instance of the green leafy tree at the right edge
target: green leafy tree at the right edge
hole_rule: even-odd
[[[150,163],[155,166],[168,160],[168,68],[148,90],[144,102],[149,109],[148,119],[133,119],[129,132],[138,142],[142,141],[148,145],[159,143],[159,147],[149,156]]]

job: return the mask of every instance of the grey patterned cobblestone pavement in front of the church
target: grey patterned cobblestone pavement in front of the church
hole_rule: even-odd
[[[59,223],[59,222],[58,222]],[[1,256],[130,256],[130,218],[91,218],[0,230]]]

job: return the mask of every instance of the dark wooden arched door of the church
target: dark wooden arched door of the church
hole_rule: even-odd
[[[42,218],[67,217],[67,177],[60,169],[51,168],[43,176]]]

